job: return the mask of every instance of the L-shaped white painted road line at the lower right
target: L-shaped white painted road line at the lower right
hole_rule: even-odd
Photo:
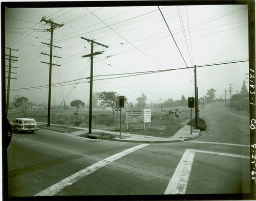
[[[221,152],[208,152],[205,150],[196,150],[196,149],[186,149],[183,154],[172,179],[164,192],[164,194],[185,194],[188,184],[189,175],[191,172],[191,168],[194,162],[195,153],[204,153],[204,154],[216,154],[221,156],[229,156],[229,157],[237,157],[250,159],[249,156],[242,156],[236,154],[228,154]]]

